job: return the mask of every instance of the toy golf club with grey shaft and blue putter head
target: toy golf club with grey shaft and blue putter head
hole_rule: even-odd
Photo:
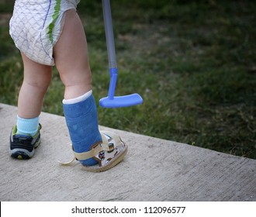
[[[116,66],[116,50],[112,29],[112,15],[109,0],[102,0],[103,18],[106,33],[106,45],[109,58],[109,94],[105,98],[99,100],[99,105],[105,108],[119,108],[138,105],[143,102],[143,99],[138,94],[115,96],[117,66]]]

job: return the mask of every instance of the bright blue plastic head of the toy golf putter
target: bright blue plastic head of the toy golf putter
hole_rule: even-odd
[[[99,105],[104,108],[120,108],[133,105],[139,105],[143,99],[138,94],[115,96],[113,98],[105,97],[99,100]]]

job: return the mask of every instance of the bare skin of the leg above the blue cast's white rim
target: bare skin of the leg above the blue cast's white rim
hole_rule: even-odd
[[[77,98],[92,89],[85,32],[74,10],[66,12],[63,31],[54,47],[54,60],[65,85],[65,99]]]

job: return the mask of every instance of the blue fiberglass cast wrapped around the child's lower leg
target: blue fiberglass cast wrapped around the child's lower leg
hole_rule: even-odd
[[[98,112],[93,95],[82,102],[63,104],[63,108],[75,152],[86,152],[90,150],[93,144],[102,141],[98,126]],[[86,166],[98,163],[93,158],[80,160],[80,162]]]

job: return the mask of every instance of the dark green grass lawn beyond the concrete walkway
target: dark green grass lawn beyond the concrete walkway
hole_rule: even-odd
[[[98,107],[99,124],[256,159],[255,11],[253,1],[112,0],[116,95],[136,91],[144,104]],[[109,85],[101,1],[81,1],[78,12],[98,103]],[[0,60],[0,102],[16,105],[22,61],[7,25]],[[54,69],[43,111],[63,115],[63,92]]]

